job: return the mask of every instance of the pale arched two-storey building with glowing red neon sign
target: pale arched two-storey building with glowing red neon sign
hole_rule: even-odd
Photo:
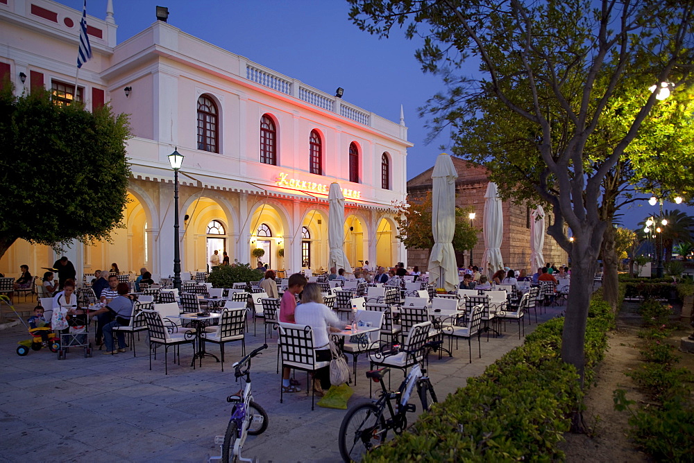
[[[174,239],[183,270],[208,268],[213,250],[255,266],[256,247],[270,268],[325,268],[332,182],[346,198],[350,262],[405,260],[391,209],[406,198],[412,143],[402,116],[388,121],[162,21],[118,44],[112,1],[105,19],[87,16],[93,58],[76,75],[80,19],[50,0],[0,0],[0,73],[17,93],[44,87],[87,110],[109,102],[130,114],[124,228],[110,243],[71,245],[78,272],[116,262],[168,276]],[[167,159],[174,149],[185,156],[179,211]],[[35,273],[55,257],[18,241],[0,272],[26,263]]]

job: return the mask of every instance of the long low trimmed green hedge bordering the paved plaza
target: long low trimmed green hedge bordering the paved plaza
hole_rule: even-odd
[[[466,387],[422,414],[411,432],[375,449],[366,461],[561,459],[556,444],[583,395],[575,368],[559,358],[563,326],[563,318],[538,326],[521,347],[469,378]],[[609,304],[594,295],[586,329],[586,381],[593,381],[613,326]]]

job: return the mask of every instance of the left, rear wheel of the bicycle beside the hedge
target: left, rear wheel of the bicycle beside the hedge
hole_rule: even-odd
[[[337,437],[340,455],[345,462],[360,462],[366,452],[386,440],[383,415],[373,403],[362,403],[350,409],[342,419]]]

